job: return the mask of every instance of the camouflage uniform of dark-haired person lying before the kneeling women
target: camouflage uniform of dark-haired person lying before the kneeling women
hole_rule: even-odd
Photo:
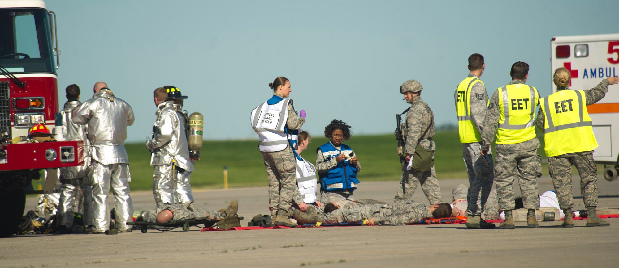
[[[395,201],[390,204],[373,204],[355,208],[342,207],[325,216],[325,222],[358,222],[374,218],[378,225],[404,225],[431,218],[428,206],[415,201]]]

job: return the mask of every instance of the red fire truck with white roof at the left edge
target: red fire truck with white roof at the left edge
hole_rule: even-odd
[[[56,14],[41,0],[0,1],[0,237],[17,231],[24,215],[24,190],[47,178],[51,193],[58,168],[84,164],[82,141],[16,142],[36,124],[54,130],[58,113]]]

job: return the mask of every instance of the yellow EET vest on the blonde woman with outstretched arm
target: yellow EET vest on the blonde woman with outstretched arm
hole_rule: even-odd
[[[540,99],[544,113],[546,156],[593,151],[597,141],[584,91],[560,90]]]

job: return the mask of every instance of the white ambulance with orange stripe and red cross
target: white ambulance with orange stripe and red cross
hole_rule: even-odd
[[[572,90],[589,90],[602,79],[619,75],[619,33],[558,36],[550,40],[550,48],[551,72],[559,67],[570,70],[569,88]],[[554,93],[556,86],[551,84]],[[616,180],[619,173],[619,86],[610,86],[604,99],[587,106],[587,111],[599,144],[593,153],[595,162],[604,164],[607,180]]]

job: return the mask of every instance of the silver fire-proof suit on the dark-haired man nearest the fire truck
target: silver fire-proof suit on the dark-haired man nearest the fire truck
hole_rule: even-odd
[[[84,141],[84,165],[77,167],[63,167],[60,169],[61,195],[58,206],[58,224],[70,227],[73,225],[73,217],[76,212],[76,199],[79,199],[80,189],[82,196],[82,215],[84,225],[92,225],[92,183],[87,176],[87,169],[90,165],[90,156],[87,154],[89,142],[86,136],[86,126],[77,125],[71,121],[71,112],[82,104],[77,100],[69,100],[64,103],[61,111],[64,126],[64,136],[67,141]],[[79,211],[80,209],[77,209]]]

